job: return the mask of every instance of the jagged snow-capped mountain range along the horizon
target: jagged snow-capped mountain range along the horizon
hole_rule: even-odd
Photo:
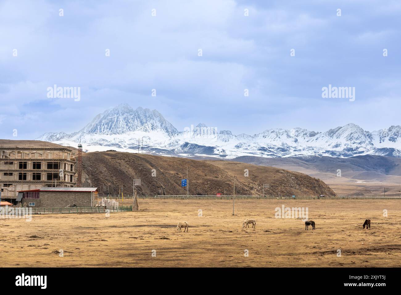
[[[178,131],[157,110],[134,110],[121,104],[106,110],[78,132],[45,133],[37,140],[76,146],[85,151],[138,152],[180,156],[209,156],[232,159],[239,156],[291,157],[318,155],[352,157],[387,155],[401,157],[401,126],[369,132],[355,124],[346,124],[326,132],[302,128],[267,129],[259,134],[234,135],[205,124],[191,125]]]

